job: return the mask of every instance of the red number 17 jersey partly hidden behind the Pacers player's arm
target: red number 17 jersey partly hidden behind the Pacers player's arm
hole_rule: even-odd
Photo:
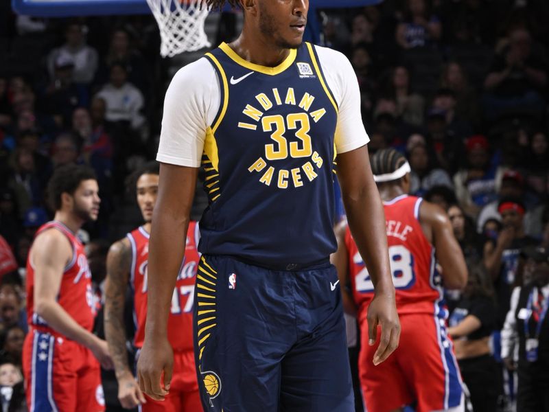
[[[194,281],[200,254],[197,246],[200,238],[198,223],[189,222],[185,242],[185,258],[179,271],[172,307],[167,323],[168,339],[174,350],[193,349],[192,308],[194,299]],[[128,233],[132,245],[132,267],[130,284],[133,290],[133,319],[135,323],[134,345],[143,346],[145,339],[145,319],[147,317],[147,266],[149,258],[149,233],[139,227]]]

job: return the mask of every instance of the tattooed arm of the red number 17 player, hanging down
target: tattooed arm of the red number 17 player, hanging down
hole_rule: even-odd
[[[122,407],[132,409],[145,403],[145,397],[128,365],[124,301],[130,278],[132,249],[126,238],[115,242],[107,255],[105,284],[105,336],[118,381],[118,399]]]

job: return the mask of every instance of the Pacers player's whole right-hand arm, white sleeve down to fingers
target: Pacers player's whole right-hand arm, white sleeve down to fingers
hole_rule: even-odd
[[[385,214],[373,181],[366,144],[369,141],[360,113],[360,89],[349,59],[335,50],[317,48],[327,83],[336,98],[338,122],[334,143],[337,151],[338,180],[349,228],[375,288],[368,309],[370,343],[382,326],[381,343],[375,364],[384,361],[399,342],[400,323],[395,306],[395,286],[389,270]]]

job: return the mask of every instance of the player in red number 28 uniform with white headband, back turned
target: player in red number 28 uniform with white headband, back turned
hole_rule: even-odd
[[[369,411],[395,411],[415,403],[417,411],[463,410],[458,365],[445,328],[440,274],[448,288],[462,288],[467,267],[445,212],[408,196],[408,162],[388,149],[372,158],[372,171],[384,201],[388,251],[397,311],[400,345],[381,365],[373,365],[377,343],[369,340],[368,306],[373,284],[347,225],[338,232],[338,268],[344,308],[358,314],[362,349],[359,358],[364,403]],[[350,278],[350,279],[349,279]],[[349,279],[349,283],[348,283]],[[349,289],[350,284],[350,289]]]

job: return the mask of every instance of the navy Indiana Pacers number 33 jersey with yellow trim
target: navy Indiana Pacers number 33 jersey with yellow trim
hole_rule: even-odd
[[[220,110],[202,157],[209,206],[199,250],[303,267],[336,251],[334,135],[338,107],[313,45],[278,67],[246,62],[226,44],[206,54]]]

